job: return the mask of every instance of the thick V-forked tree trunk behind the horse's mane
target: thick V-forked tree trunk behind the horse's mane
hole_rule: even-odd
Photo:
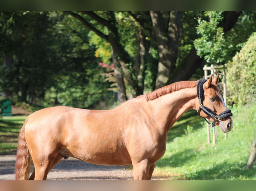
[[[155,89],[168,83],[175,69],[181,28],[181,11],[171,11],[168,28],[164,25],[160,11],[150,11],[158,44],[159,63]]]

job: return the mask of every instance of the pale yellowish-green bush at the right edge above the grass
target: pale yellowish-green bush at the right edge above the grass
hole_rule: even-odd
[[[253,33],[233,61],[227,63],[229,103],[252,104],[256,101],[256,33]]]

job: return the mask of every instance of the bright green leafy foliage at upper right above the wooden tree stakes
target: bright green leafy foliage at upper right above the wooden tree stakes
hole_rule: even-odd
[[[232,60],[237,51],[256,30],[255,11],[243,11],[235,26],[224,33],[221,27],[223,11],[206,11],[204,17],[198,17],[197,33],[201,38],[195,40],[197,54],[209,64],[224,64]]]

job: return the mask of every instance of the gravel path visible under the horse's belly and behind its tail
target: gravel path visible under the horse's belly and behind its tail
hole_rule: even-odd
[[[14,180],[15,155],[0,155],[0,180]],[[78,159],[62,159],[49,172],[47,180],[133,180],[125,166],[102,166]]]

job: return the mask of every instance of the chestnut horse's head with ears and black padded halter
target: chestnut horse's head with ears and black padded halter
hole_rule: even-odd
[[[223,96],[217,87],[218,82],[219,74],[215,79],[213,79],[212,75],[207,81],[199,81],[197,87],[198,98],[200,100],[198,114],[204,118],[208,118],[213,122],[212,126],[216,124],[226,133],[233,128],[232,113],[230,109],[227,109],[223,101]]]

